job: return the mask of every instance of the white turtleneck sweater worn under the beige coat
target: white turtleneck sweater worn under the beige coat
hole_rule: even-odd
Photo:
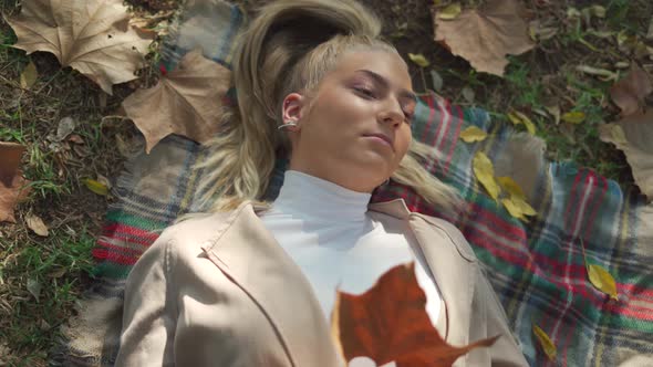
[[[434,280],[402,234],[404,228],[385,228],[370,217],[371,196],[287,170],[279,197],[261,220],[303,271],[328,319],[336,287],[362,294],[391,268],[414,261],[436,325],[440,297]]]

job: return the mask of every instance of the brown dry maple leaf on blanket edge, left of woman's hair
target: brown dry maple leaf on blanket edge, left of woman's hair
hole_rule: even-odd
[[[145,136],[146,151],[169,134],[206,143],[218,129],[220,103],[231,72],[205,59],[201,51],[187,53],[175,71],[149,90],[136,91],[123,102],[126,115]]]

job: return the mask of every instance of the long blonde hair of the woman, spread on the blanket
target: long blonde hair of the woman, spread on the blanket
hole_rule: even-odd
[[[279,151],[289,153],[282,124],[286,95],[310,95],[339,56],[353,49],[397,52],[380,38],[381,23],[370,11],[348,0],[277,0],[258,11],[236,40],[234,84],[238,108],[221,118],[218,136],[207,144],[208,157],[197,168],[200,207],[231,210],[245,200],[265,203]],[[437,159],[433,147],[413,140],[392,175],[424,200],[454,209],[456,192],[422,165]]]

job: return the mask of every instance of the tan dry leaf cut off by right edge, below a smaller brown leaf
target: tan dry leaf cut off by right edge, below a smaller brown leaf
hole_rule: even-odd
[[[621,129],[619,129],[621,128]],[[599,126],[601,140],[623,150],[635,184],[653,201],[653,109]]]

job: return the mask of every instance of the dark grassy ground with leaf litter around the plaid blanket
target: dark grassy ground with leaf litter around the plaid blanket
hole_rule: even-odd
[[[263,1],[239,0],[245,9]],[[553,160],[574,160],[615,179],[623,189],[633,188],[630,167],[623,155],[599,140],[597,127],[616,118],[619,109],[610,102],[611,82],[579,72],[576,66],[591,65],[614,70],[616,62],[633,57],[619,50],[614,38],[601,39],[569,21],[570,7],[583,9],[600,4],[605,18],[591,25],[607,31],[623,31],[643,39],[653,15],[650,0],[563,1],[525,0],[531,19],[548,20],[557,35],[532,51],[510,56],[504,78],[475,72],[433,40],[429,7],[433,0],[363,0],[373,8],[385,28],[384,36],[407,53],[422,53],[431,62],[426,70],[411,64],[417,92],[434,88],[429,71],[444,80],[438,94],[462,105],[488,109],[493,118],[506,120],[511,109],[532,118]],[[444,3],[444,1],[439,1]],[[475,3],[474,3],[475,2]],[[483,1],[463,1],[465,7]],[[4,17],[18,13],[18,0],[2,0]],[[176,9],[175,0],[129,0],[141,13]],[[115,182],[124,162],[120,141],[137,134],[128,119],[117,116],[121,102],[141,84],[156,78],[157,53],[148,55],[144,80],[114,87],[107,96],[95,84],[71,69],[61,69],[48,53],[12,49],[15,35],[0,20],[0,141],[27,146],[24,176],[32,181],[32,193],[17,210],[15,224],[0,223],[0,365],[45,365],[48,352],[55,345],[59,327],[74,313],[74,304],[92,276],[91,249],[101,233],[103,217],[115,198],[90,191],[83,179],[108,178]],[[650,42],[653,43],[653,42]],[[30,90],[20,86],[20,73],[31,61],[39,78]],[[650,59],[639,60],[644,69]],[[649,69],[650,71],[650,69]],[[423,77],[425,72],[425,77]],[[470,98],[469,91],[474,92]],[[538,114],[546,106],[562,111],[582,111],[588,119],[581,125],[556,124]],[[64,117],[77,122],[76,143],[53,144]],[[25,226],[29,216],[39,216],[50,228],[46,238]]]

